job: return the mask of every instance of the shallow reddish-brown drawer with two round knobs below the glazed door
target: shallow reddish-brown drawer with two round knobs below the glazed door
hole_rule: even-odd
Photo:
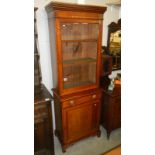
[[[83,96],[81,98],[74,98],[74,99],[62,102],[62,108],[72,107],[88,101],[93,101],[93,100],[96,101],[96,99],[100,99],[100,97],[101,97],[101,94],[94,93],[91,95]]]

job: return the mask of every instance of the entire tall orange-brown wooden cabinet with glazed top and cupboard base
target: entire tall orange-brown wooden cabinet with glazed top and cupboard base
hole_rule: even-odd
[[[99,89],[103,13],[106,7],[52,2],[49,20],[56,135],[63,151],[100,135]]]

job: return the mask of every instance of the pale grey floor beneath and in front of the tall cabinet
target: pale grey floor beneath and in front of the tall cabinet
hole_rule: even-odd
[[[55,155],[101,155],[121,144],[121,129],[111,132],[110,139],[107,140],[105,129],[103,127],[100,128],[100,138],[95,136],[80,140],[68,147],[65,153],[62,153],[61,145],[57,137],[55,137]]]

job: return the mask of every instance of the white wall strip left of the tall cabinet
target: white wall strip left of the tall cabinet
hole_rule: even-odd
[[[42,82],[51,92],[52,85],[52,67],[50,58],[49,30],[47,14],[44,9],[44,0],[35,0],[37,10],[37,30],[40,53],[40,64],[42,73]]]

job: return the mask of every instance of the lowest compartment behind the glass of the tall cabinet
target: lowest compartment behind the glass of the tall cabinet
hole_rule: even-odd
[[[63,67],[64,89],[91,85],[96,82],[96,62]]]

